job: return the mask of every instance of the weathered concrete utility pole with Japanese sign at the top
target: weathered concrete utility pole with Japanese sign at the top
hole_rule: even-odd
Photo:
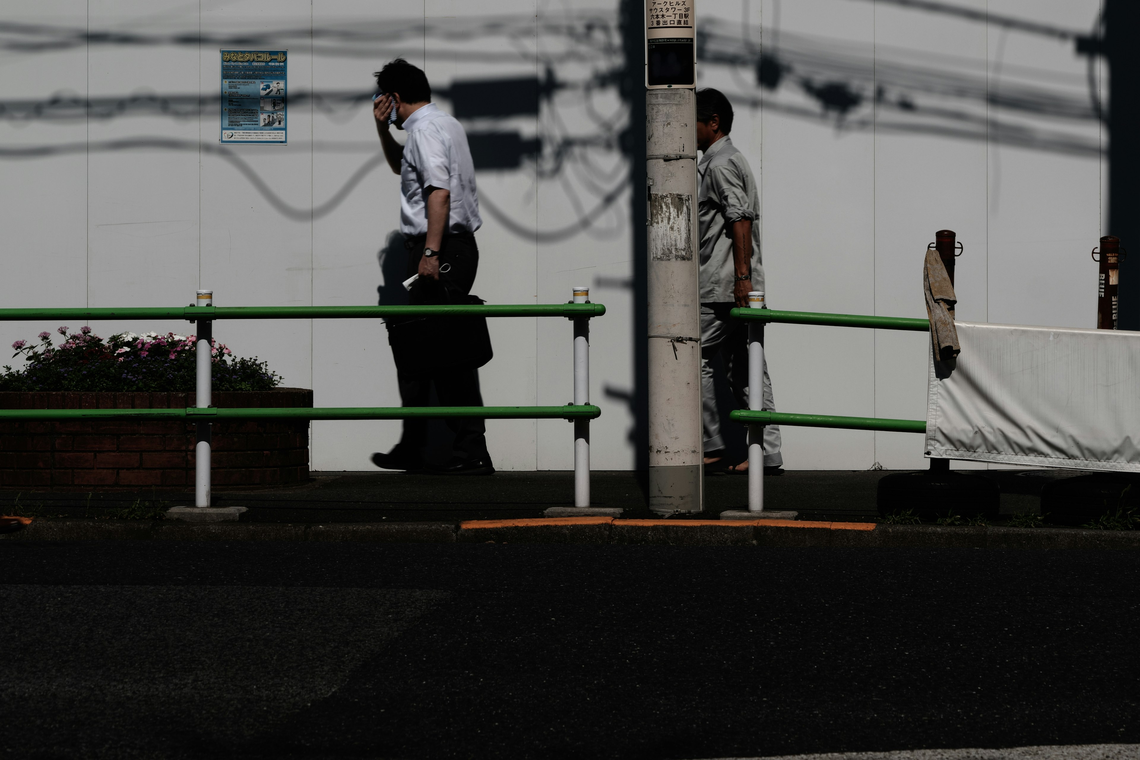
[[[649,506],[703,509],[694,0],[645,0]]]

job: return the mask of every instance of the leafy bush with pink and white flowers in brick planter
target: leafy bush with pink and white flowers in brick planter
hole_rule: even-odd
[[[13,357],[23,356],[21,369],[6,366],[0,391],[112,391],[190,393],[196,383],[196,336],[121,333],[104,341],[90,327],[51,344],[51,334],[40,333],[39,344],[16,341]],[[282,377],[263,361],[234,358],[221,343],[211,343],[214,391],[268,391]]]

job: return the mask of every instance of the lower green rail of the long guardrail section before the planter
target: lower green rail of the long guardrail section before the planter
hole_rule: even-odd
[[[19,419],[413,419],[479,417],[482,419],[594,419],[602,410],[589,403],[562,407],[280,407],[196,409],[0,409],[0,420]]]

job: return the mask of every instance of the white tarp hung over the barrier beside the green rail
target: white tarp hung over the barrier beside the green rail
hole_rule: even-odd
[[[956,361],[930,360],[927,456],[1140,472],[1140,333],[955,326]]]

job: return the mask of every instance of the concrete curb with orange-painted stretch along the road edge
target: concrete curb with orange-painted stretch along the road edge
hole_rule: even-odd
[[[358,541],[373,544],[612,544],[648,546],[1140,549],[1140,531],[885,525],[784,520],[545,517],[455,523],[184,523],[44,520],[0,541]]]

